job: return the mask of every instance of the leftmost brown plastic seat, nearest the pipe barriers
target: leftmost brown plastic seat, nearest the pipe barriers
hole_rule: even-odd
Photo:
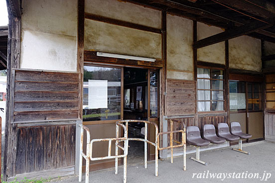
[[[189,144],[199,147],[210,144],[210,141],[201,138],[200,129],[197,126],[187,126],[186,140]]]

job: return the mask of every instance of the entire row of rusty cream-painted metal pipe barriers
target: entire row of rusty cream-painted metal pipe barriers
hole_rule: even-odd
[[[128,125],[131,122],[136,123],[144,123],[145,130],[144,130],[144,139],[143,138],[128,138]],[[160,132],[158,133],[158,127],[154,122],[145,121],[145,120],[120,120],[116,122],[116,138],[106,138],[106,139],[93,139],[90,140],[90,132],[89,129],[79,124],[81,127],[81,138],[80,138],[80,162],[79,162],[79,182],[82,180],[82,158],[86,160],[86,175],[85,175],[85,183],[89,183],[89,164],[91,161],[96,160],[106,160],[106,159],[115,159],[115,174],[118,174],[118,159],[124,158],[124,183],[127,182],[127,155],[128,155],[128,143],[129,140],[135,140],[135,141],[142,141],[144,142],[144,168],[147,168],[147,144],[153,145],[155,147],[155,176],[158,176],[158,151],[164,150],[164,149],[171,149],[171,163],[173,163],[173,149],[177,147],[183,147],[183,170],[186,171],[186,127],[184,123],[181,123],[180,121],[168,119],[168,123],[170,124],[170,130],[173,129],[173,122],[177,122],[182,125],[182,130],[174,130],[174,131],[168,131],[168,132]],[[123,124],[125,123],[125,125]],[[148,135],[148,124],[152,124],[155,127],[155,142],[151,142],[147,139]],[[119,127],[122,127],[124,129],[124,137],[119,137]],[[86,149],[86,155],[83,153],[83,137],[84,137],[84,130],[87,132],[87,149]],[[181,134],[181,141],[173,139],[173,134]],[[169,134],[170,136],[170,146],[168,147],[160,147],[159,145],[159,137],[165,134]],[[94,142],[103,142],[108,141],[109,142],[109,148],[108,148],[108,156],[105,157],[99,157],[99,158],[93,158],[93,143]],[[111,148],[112,148],[112,141],[116,141],[116,154],[115,156],[111,156]],[[120,144],[121,142],[124,142],[124,145]],[[173,143],[176,143],[177,145],[173,145]],[[119,148],[124,151],[123,155],[119,155]]]

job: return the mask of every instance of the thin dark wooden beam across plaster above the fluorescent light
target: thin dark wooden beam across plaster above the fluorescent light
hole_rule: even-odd
[[[85,18],[91,19],[91,20],[96,20],[96,21],[101,21],[101,22],[105,22],[105,23],[110,23],[110,24],[114,24],[114,25],[120,25],[120,26],[124,26],[124,27],[129,27],[129,28],[134,28],[134,29],[138,29],[138,30],[144,30],[144,31],[148,31],[148,32],[161,34],[161,30],[157,29],[157,28],[148,27],[148,26],[137,24],[137,23],[131,23],[131,22],[123,21],[123,20],[114,19],[114,18],[109,18],[109,17],[105,17],[105,16],[100,16],[100,15],[96,15],[96,14],[92,14],[92,13],[85,13]]]

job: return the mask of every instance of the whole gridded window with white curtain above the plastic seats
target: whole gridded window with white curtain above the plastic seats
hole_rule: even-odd
[[[198,111],[224,111],[223,70],[197,68]]]

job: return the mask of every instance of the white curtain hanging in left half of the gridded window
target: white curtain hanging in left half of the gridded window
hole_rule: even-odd
[[[198,78],[210,79],[210,70],[198,68]],[[198,79],[197,87],[197,99],[210,100],[210,80]],[[202,91],[199,89],[209,89],[209,91]],[[198,111],[210,111],[210,101],[198,101]]]

